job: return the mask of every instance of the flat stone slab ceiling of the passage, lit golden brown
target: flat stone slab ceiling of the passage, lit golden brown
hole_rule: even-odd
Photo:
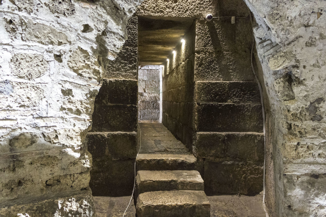
[[[194,19],[139,17],[139,65],[162,65]]]

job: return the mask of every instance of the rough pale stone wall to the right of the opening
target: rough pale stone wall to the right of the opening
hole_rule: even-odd
[[[251,1],[267,106],[270,216],[325,216],[325,1]]]

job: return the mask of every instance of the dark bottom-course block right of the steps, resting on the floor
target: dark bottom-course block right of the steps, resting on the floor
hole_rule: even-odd
[[[263,166],[251,162],[204,162],[204,184],[207,195],[258,194],[262,191]]]

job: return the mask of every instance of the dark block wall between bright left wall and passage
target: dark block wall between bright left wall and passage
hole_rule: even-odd
[[[127,24],[128,39],[108,62],[95,98],[88,151],[93,156],[90,187],[94,196],[130,195],[137,146],[137,17]]]

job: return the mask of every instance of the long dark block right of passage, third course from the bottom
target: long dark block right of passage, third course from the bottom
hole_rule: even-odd
[[[200,103],[196,112],[197,131],[262,132],[259,104]]]

